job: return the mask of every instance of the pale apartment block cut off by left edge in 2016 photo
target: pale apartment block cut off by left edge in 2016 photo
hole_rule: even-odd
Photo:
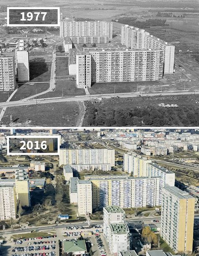
[[[16,218],[16,193],[13,185],[0,185],[0,220]]]

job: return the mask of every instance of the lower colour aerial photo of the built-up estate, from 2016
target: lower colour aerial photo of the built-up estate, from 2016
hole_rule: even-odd
[[[0,129],[2,256],[198,256],[198,202],[199,129]]]

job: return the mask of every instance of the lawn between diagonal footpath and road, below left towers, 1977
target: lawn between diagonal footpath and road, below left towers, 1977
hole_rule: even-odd
[[[12,99],[10,101],[15,101],[15,100],[22,100],[25,99],[29,96],[32,96],[40,92],[44,92],[49,88],[50,84],[49,83],[39,83],[39,84],[20,84],[17,92],[14,94]]]

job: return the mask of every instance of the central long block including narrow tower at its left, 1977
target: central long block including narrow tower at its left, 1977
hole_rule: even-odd
[[[163,50],[98,49],[77,51],[76,84],[155,81],[162,79]]]

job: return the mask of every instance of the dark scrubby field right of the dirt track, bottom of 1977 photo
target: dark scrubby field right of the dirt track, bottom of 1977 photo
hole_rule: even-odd
[[[198,126],[199,95],[103,99],[85,103],[83,126]],[[177,104],[163,108],[158,104]]]

